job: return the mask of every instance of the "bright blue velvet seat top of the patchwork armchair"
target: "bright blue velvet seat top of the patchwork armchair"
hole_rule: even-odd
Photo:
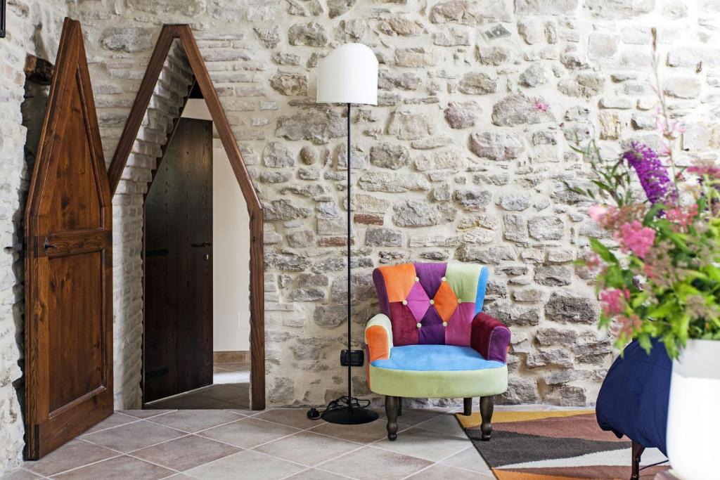
[[[462,371],[499,368],[505,363],[485,360],[470,347],[456,345],[403,345],[390,349],[390,358],[376,360],[372,366],[391,370]]]

